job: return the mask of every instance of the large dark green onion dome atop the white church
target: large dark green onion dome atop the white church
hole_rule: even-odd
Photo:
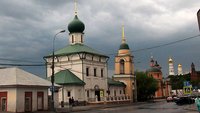
[[[83,33],[85,25],[75,15],[74,19],[68,24],[68,30],[70,33]]]

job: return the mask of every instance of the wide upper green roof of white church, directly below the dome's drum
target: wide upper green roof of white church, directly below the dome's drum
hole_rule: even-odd
[[[73,45],[71,44],[58,51],[55,51],[55,56],[64,56],[64,55],[70,55],[70,54],[76,54],[76,53],[89,53],[89,54],[99,55],[103,57],[108,57],[100,53],[99,51],[96,51],[84,44],[79,44],[79,43],[73,44]],[[51,56],[52,54],[46,57],[51,57]]]

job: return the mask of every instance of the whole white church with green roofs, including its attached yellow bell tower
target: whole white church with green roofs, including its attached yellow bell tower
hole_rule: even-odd
[[[118,68],[116,70],[120,69],[118,65],[123,70],[116,71],[117,75],[111,79],[108,78],[109,57],[84,44],[84,30],[85,25],[78,18],[75,3],[74,19],[68,24],[69,44],[55,51],[54,58],[52,54],[44,57],[47,78],[51,79],[54,63],[55,83],[62,86],[57,94],[58,103],[69,102],[72,97],[78,102],[87,103],[130,100],[133,88],[132,56],[125,40],[123,39],[115,63]],[[117,59],[121,59],[121,63],[117,63]]]

